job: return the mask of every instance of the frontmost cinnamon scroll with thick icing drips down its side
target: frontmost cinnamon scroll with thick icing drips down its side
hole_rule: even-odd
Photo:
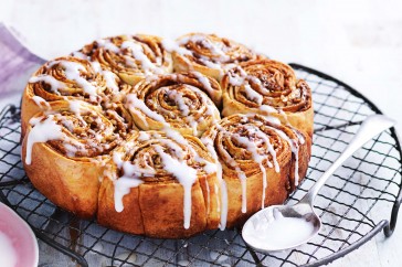
[[[98,223],[159,238],[218,227],[216,165],[201,141],[174,130],[140,131],[113,152]]]

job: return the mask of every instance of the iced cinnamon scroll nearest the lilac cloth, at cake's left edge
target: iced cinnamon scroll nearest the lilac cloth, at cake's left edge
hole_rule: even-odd
[[[93,105],[120,102],[131,86],[102,70],[96,62],[73,56],[45,63],[29,79],[22,97],[22,131],[28,120],[40,111],[50,111],[57,100],[84,100]]]

